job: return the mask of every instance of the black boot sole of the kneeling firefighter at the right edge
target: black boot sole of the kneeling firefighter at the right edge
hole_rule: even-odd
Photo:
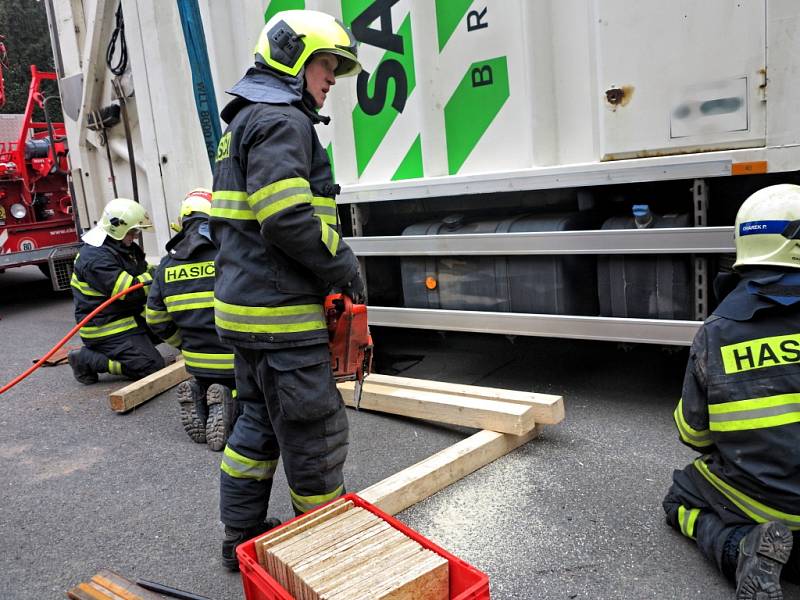
[[[782,600],[781,569],[792,552],[792,532],[770,521],[753,528],[739,542],[736,600]]]

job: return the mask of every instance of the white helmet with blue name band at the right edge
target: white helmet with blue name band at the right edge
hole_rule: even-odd
[[[751,194],[736,214],[735,269],[800,269],[800,186],[771,185]]]

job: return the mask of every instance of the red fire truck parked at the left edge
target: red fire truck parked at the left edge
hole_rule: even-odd
[[[58,95],[42,92],[42,83],[55,79],[55,73],[31,66],[25,113],[0,115],[0,273],[37,265],[50,277],[53,289],[66,290],[79,237],[69,187],[66,131],[63,123],[50,118],[50,101]],[[37,108],[44,121],[34,120]],[[3,129],[12,131],[3,135]]]

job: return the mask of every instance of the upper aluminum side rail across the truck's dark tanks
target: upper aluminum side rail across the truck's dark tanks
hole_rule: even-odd
[[[733,227],[349,237],[359,257],[736,252]]]

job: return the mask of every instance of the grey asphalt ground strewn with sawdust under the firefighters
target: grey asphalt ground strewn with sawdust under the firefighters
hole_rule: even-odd
[[[74,325],[69,294],[34,268],[0,275],[0,384]],[[672,470],[694,453],[671,413],[685,349],[498,336],[376,331],[377,370],[553,394],[566,420],[400,513],[489,575],[492,598],[723,600],[732,587],[664,524]],[[72,344],[78,344],[77,338]],[[131,578],[241,599],[219,560],[220,454],[192,443],[174,391],[126,415],[103,376],[38,370],[0,396],[0,598],[65,598],[108,568]],[[346,481],[358,491],[471,431],[349,411]],[[292,516],[278,472],[271,514]],[[787,600],[800,588],[784,586]]]

